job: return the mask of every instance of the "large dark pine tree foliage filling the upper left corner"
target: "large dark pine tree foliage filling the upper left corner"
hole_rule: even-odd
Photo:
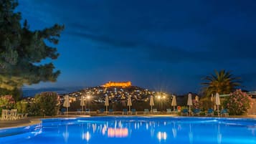
[[[0,87],[12,90],[22,85],[54,82],[60,71],[54,72],[52,62],[42,64],[43,59],[57,59],[56,47],[64,26],[42,30],[30,30],[27,20],[21,24],[21,13],[14,11],[16,0],[0,1]]]

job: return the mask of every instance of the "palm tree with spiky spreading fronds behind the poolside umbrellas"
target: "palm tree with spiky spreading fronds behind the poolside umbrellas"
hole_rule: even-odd
[[[203,92],[207,96],[215,94],[229,94],[237,89],[237,86],[240,86],[240,77],[233,77],[231,72],[226,72],[225,70],[217,71],[215,70],[215,75],[210,75],[204,77],[203,80]]]

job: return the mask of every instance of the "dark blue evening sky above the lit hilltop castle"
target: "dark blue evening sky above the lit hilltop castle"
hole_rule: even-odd
[[[56,83],[128,81],[176,94],[199,92],[214,69],[256,90],[256,1],[19,0],[31,29],[65,24]]]

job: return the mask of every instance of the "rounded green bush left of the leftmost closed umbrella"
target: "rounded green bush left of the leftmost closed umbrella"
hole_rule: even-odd
[[[34,106],[37,107],[37,115],[57,115],[60,108],[59,97],[56,92],[42,92],[35,97]]]

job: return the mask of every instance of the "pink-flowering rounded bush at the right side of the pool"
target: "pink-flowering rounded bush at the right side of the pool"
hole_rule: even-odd
[[[227,108],[231,115],[245,115],[250,107],[252,107],[252,97],[242,90],[236,90],[229,94]]]

